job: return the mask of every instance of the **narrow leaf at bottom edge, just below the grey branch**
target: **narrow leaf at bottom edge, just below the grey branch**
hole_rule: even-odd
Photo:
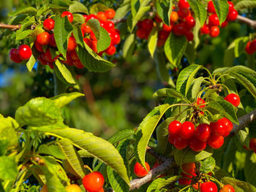
[[[162,177],[154,180],[149,186],[146,192],[160,191],[162,188],[167,187],[171,183],[175,183],[181,176]]]

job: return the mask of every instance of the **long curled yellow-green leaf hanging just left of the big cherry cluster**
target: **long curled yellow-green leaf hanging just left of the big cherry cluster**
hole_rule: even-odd
[[[146,167],[145,165],[145,154],[146,154],[146,147],[148,146],[149,139],[154,132],[154,129],[157,127],[159,120],[162,118],[162,115],[165,114],[165,111],[170,107],[169,104],[162,104],[159,106],[159,115],[154,116],[147,116],[143,119],[140,123],[138,131],[136,132],[136,143],[138,143],[136,147],[136,151],[138,154],[138,158],[141,164]]]

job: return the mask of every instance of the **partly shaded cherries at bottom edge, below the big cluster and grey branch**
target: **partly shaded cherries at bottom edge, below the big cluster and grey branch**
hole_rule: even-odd
[[[211,176],[211,172],[208,173]],[[200,177],[197,177],[197,167],[195,163],[187,163],[181,165],[181,178],[178,179],[180,185],[192,185],[195,190],[200,192],[217,192],[218,188],[214,182],[207,181]],[[235,192],[235,189],[231,185],[224,185],[219,192]]]

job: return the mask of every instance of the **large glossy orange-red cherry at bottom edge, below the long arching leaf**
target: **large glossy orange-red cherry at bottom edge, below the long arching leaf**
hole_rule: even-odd
[[[104,184],[104,177],[100,172],[91,172],[83,177],[83,187],[87,191],[99,191]]]

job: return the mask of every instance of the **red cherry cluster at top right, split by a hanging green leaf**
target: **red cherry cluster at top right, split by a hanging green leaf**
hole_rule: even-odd
[[[227,1],[229,4],[228,14],[226,20],[222,23],[222,28],[225,28],[229,21],[236,20],[238,16],[237,10],[234,8],[234,4],[231,1]],[[201,34],[210,34],[211,37],[219,36],[219,18],[216,14],[213,1],[208,1],[208,23],[204,23],[200,28]],[[207,21],[207,20],[206,20]]]

